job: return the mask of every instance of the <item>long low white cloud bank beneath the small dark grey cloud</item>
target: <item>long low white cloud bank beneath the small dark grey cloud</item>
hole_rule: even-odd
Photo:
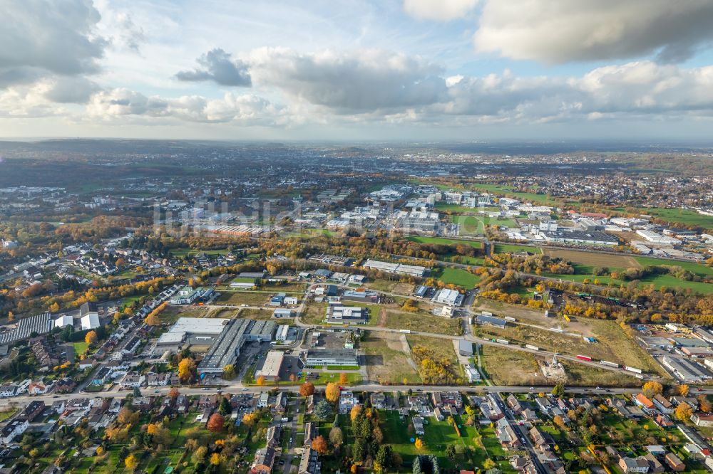
[[[161,98],[127,89],[101,91],[86,107],[90,117],[116,120],[120,117],[153,117],[186,122],[239,122],[249,125],[275,125],[281,107],[253,94],[226,93],[220,99],[200,95]]]

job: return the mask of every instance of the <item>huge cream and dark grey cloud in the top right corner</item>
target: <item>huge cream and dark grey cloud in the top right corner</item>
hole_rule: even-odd
[[[481,52],[543,63],[657,54],[689,58],[713,39],[709,0],[487,0],[473,41]]]

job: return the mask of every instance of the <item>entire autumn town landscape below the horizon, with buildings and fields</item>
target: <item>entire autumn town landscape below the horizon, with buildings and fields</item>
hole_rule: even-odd
[[[713,149],[0,154],[3,473],[713,471]]]

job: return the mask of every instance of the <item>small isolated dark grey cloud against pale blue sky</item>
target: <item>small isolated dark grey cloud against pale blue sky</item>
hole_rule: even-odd
[[[230,53],[215,48],[197,60],[200,68],[183,70],[175,75],[178,80],[198,82],[212,80],[220,85],[250,87],[252,80],[247,65],[241,60],[232,60]]]

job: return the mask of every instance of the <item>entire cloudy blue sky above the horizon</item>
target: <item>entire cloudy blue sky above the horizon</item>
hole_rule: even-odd
[[[0,137],[709,139],[713,0],[0,0]]]

